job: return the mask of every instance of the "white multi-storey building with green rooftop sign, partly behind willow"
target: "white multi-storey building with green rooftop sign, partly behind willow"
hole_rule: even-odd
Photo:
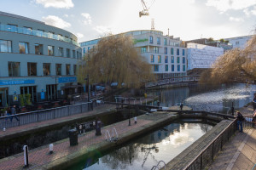
[[[164,36],[162,31],[139,30],[125,33],[134,39],[134,46],[152,65],[156,77],[160,79],[186,76],[187,51],[179,38]],[[94,48],[100,39],[81,42],[83,54]]]

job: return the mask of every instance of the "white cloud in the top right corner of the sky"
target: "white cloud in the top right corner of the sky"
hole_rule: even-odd
[[[217,8],[220,12],[229,9],[240,10],[256,5],[256,0],[207,0],[207,6]]]

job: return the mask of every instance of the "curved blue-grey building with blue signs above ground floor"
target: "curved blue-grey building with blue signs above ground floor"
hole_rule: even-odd
[[[0,12],[0,107],[61,98],[78,91],[82,51],[72,33],[15,14]]]

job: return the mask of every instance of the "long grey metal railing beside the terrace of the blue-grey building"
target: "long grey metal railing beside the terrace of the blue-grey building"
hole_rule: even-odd
[[[89,103],[87,102],[76,105],[65,105],[41,111],[30,111],[10,116],[1,116],[0,129],[17,127],[33,122],[43,122],[50,119],[60,118],[63,116],[72,116],[75,114],[92,111],[93,103],[95,102],[91,101]],[[19,121],[15,117],[19,119]]]

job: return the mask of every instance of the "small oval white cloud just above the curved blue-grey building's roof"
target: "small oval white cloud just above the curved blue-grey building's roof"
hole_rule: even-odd
[[[48,15],[47,17],[43,17],[43,20],[46,24],[50,26],[56,26],[59,28],[67,28],[71,26],[70,23],[66,22],[65,20],[62,20],[61,18],[55,15]]]

